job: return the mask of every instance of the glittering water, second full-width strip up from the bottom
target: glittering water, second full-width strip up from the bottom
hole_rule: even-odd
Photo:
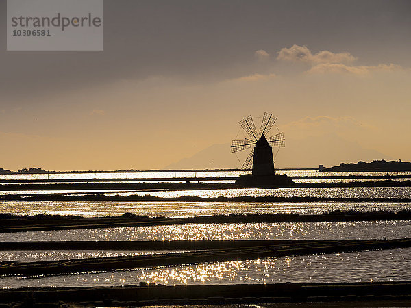
[[[0,233],[0,241],[75,240],[275,240],[409,238],[411,220],[371,222],[276,222]]]

